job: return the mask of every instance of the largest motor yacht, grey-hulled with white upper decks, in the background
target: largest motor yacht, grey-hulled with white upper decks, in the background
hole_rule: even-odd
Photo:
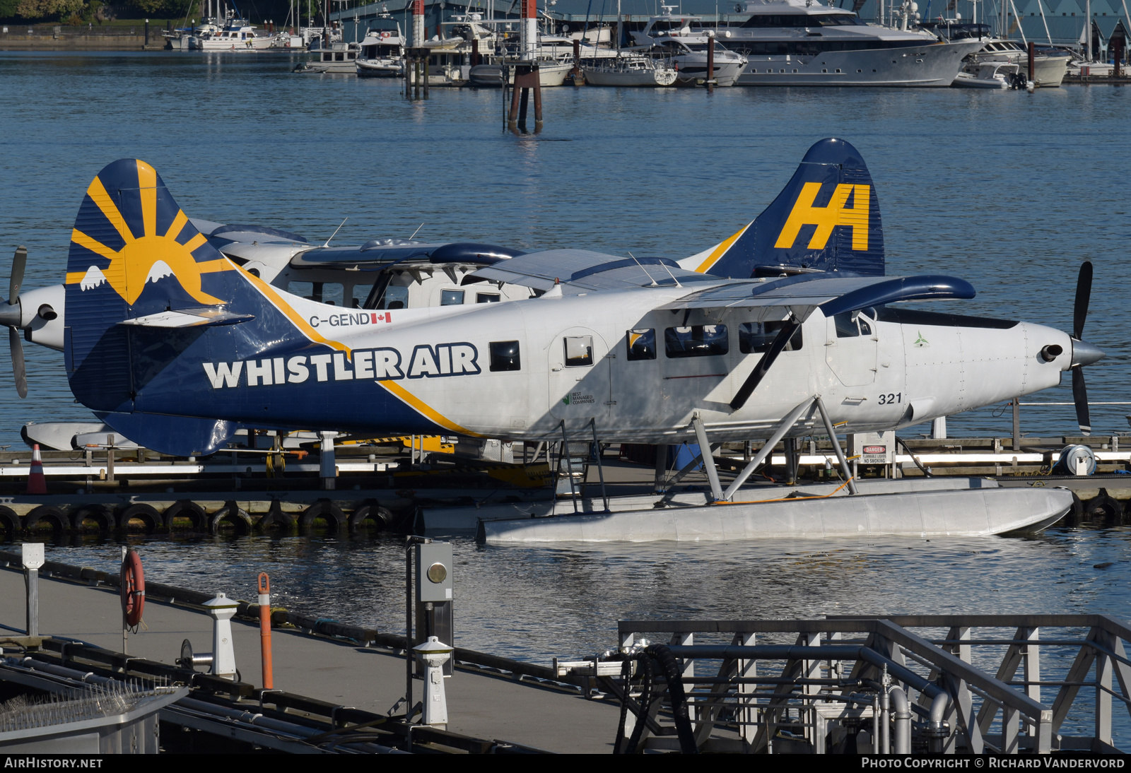
[[[740,86],[946,87],[978,41],[864,23],[854,11],[813,0],[753,0],[718,38],[749,61]]]

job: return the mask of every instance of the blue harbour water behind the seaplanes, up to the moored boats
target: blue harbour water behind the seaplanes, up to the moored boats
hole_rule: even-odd
[[[545,131],[501,131],[492,90],[299,76],[294,57],[0,53],[0,267],[29,249],[25,287],[62,279],[83,191],[123,156],[153,164],[192,217],[260,223],[337,243],[408,236],[534,250],[683,258],[752,219],[809,146],[852,141],[878,186],[889,273],[974,283],[966,313],[1071,329],[1076,272],[1096,266],[1087,338],[1094,402],[1128,399],[1123,284],[1131,236],[1123,116],[1131,90],[546,89]],[[0,277],[6,269],[0,268]],[[0,385],[0,445],[27,420],[88,418],[58,353],[26,347],[31,393]],[[1071,401],[1064,386],[1035,400]],[[1095,406],[1096,434],[1131,406]],[[1070,406],[1026,408],[1022,429],[1065,434]],[[1004,406],[950,419],[1009,434]],[[906,431],[914,436],[925,428]]]

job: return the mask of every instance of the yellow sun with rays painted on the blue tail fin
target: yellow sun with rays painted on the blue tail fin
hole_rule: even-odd
[[[68,271],[67,284],[79,284],[81,289],[88,289],[101,285],[104,280],[132,306],[145,289],[146,283],[172,275],[180,281],[184,292],[201,305],[225,303],[201,289],[200,275],[235,270],[235,264],[223,257],[197,262],[192,252],[204,245],[207,238],[204,234],[195,233],[184,244],[178,242],[185,227],[196,232],[180,208],[169,228],[164,233],[158,233],[157,172],[145,162],[136,163],[141,200],[140,223],[133,223],[131,227],[102,180],[95,177],[86,193],[124,244],[114,250],[76,227],[71,232],[71,242],[105,258],[110,261],[110,266],[100,268],[92,264],[86,271]],[[140,235],[136,234],[138,231],[141,232]]]

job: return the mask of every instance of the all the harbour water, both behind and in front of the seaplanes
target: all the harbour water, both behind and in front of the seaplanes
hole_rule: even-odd
[[[1079,263],[1096,267],[1086,337],[1093,401],[1128,399],[1123,289],[1131,90],[544,92],[538,136],[501,131],[498,92],[296,76],[279,55],[0,53],[0,266],[16,244],[26,287],[61,280],[71,224],[110,160],[153,164],[191,216],[284,227],[340,243],[408,236],[534,250],[585,246],[682,258],[768,205],[809,146],[852,141],[879,191],[889,273],[967,278],[964,313],[1071,328]],[[0,269],[0,276],[3,269]],[[86,418],[61,355],[27,347],[29,396],[0,383],[0,445],[27,420]],[[2,374],[0,374],[2,375]],[[1064,386],[1033,398],[1070,401]],[[1126,406],[1093,408],[1096,434]],[[1074,432],[1071,407],[1022,410],[1030,434]],[[909,435],[925,432],[909,428]],[[951,434],[1007,435],[1004,406],[950,419]],[[458,642],[538,662],[615,643],[615,620],[806,617],[854,611],[1090,611],[1131,616],[1131,531],[1035,539],[501,548],[456,542]],[[161,582],[403,626],[399,540],[144,540]],[[111,568],[118,547],[53,545],[49,557]],[[1106,568],[1097,564],[1111,563]]]

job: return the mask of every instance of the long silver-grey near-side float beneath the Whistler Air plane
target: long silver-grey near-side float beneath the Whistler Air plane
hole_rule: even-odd
[[[984,537],[1045,529],[1072,507],[1061,488],[969,488],[481,520],[490,544]]]

